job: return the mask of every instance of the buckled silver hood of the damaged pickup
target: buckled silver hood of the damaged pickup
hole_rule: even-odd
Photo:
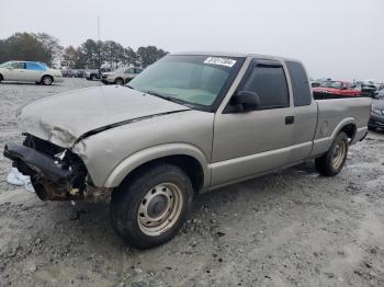
[[[190,108],[126,87],[92,87],[33,102],[18,112],[20,127],[59,147],[114,126]]]

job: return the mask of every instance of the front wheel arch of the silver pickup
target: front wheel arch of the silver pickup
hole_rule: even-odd
[[[211,172],[204,153],[188,144],[170,144],[140,150],[121,161],[110,173],[105,187],[116,187],[124,180],[151,164],[167,162],[181,168],[191,179],[195,192],[210,185]]]

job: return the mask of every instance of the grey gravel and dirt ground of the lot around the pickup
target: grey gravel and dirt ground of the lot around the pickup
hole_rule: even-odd
[[[0,85],[0,146],[16,110],[99,84]],[[336,177],[312,163],[196,198],[157,249],[124,245],[106,204],[43,203],[5,182],[0,156],[0,286],[384,286],[384,134],[351,147]]]

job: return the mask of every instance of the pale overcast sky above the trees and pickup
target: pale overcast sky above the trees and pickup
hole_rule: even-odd
[[[0,38],[113,39],[300,59],[313,78],[384,81],[384,0],[0,0]]]

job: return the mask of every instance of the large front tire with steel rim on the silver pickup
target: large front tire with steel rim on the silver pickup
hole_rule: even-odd
[[[129,245],[153,248],[177,234],[190,214],[192,199],[191,181],[180,168],[150,165],[113,192],[111,223]]]

